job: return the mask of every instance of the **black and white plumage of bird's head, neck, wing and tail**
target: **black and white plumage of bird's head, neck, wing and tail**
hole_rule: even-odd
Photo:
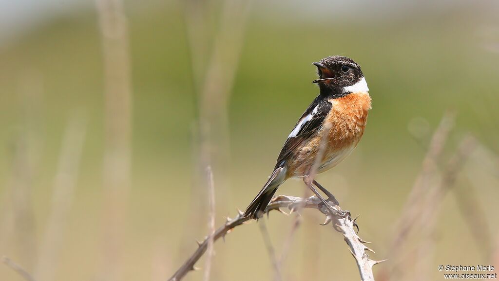
[[[296,173],[295,170],[288,169],[296,168],[295,160],[298,157],[297,153],[303,153],[302,148],[307,143],[310,143],[311,140],[317,138],[317,133],[323,127],[326,118],[333,108],[331,101],[346,97],[358,89],[366,92],[368,90],[360,66],[349,58],[333,56],[322,59],[319,63],[314,63],[314,65],[317,66],[319,74],[319,79],[315,80],[314,83],[318,83],[320,94],[312,101],[300,119],[298,119],[298,122],[282,146],[272,174],[246,209],[245,215],[250,215],[251,218],[256,219],[259,217],[259,213],[264,211],[279,185],[287,178],[294,177],[297,174],[299,176],[304,175],[301,171]],[[302,159],[302,156],[298,159]],[[344,155],[338,154],[338,156],[343,157]],[[304,162],[307,162],[304,163],[306,165],[309,162],[307,160],[304,160]],[[329,161],[335,161],[334,155]],[[291,162],[293,162],[292,167],[290,167]],[[300,165],[301,160],[298,160],[298,162],[300,162],[298,163]],[[321,164],[327,165],[330,162],[326,161]]]

